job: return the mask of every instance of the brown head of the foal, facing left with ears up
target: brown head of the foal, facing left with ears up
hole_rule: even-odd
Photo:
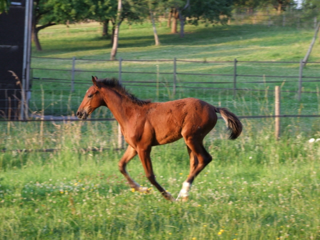
[[[83,100],[76,111],[76,115],[78,118],[86,119],[88,115],[94,111],[95,108],[105,105],[103,98],[100,94],[100,84],[96,81],[97,77],[92,76],[93,86],[90,86],[86,91]]]

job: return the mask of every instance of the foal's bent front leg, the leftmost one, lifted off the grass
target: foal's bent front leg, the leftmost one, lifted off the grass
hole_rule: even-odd
[[[136,191],[140,191],[140,192],[148,192],[148,188],[147,187],[142,187],[140,186],[138,183],[136,183],[127,173],[125,166],[126,164],[136,155],[136,150],[128,145],[128,147],[126,148],[123,156],[121,157],[118,166],[119,166],[119,170],[120,172],[124,175],[124,177],[127,179],[127,181],[129,182],[129,185],[131,188],[133,188]]]

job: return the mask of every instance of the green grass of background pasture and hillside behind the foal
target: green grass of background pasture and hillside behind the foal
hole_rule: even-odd
[[[72,29],[69,33],[62,26],[52,26],[46,28],[40,34],[40,41],[43,46],[42,52],[33,49],[33,56],[62,57],[70,59],[43,59],[32,58],[33,68],[65,69],[67,71],[38,70],[33,69],[34,77],[49,77],[58,79],[71,79],[71,57],[76,57],[75,79],[88,84],[75,84],[75,92],[70,93],[70,83],[52,83],[33,81],[31,109],[36,112],[42,110],[41,103],[45,101],[45,114],[66,115],[72,114],[77,109],[83,93],[90,85],[91,75],[100,78],[117,77],[118,73],[101,73],[99,71],[118,71],[117,61],[90,61],[81,59],[109,59],[110,41],[100,36],[100,26],[97,23],[81,24],[88,26],[87,32],[73,32],[79,29]],[[194,87],[233,87],[233,62],[229,63],[190,63],[177,61],[177,92],[172,93],[173,82],[173,58],[188,59],[198,61],[296,61],[303,58],[311,38],[313,30],[298,30],[292,27],[267,27],[263,25],[222,25],[214,27],[204,27],[203,25],[186,25],[186,35],[180,38],[178,34],[169,34],[169,29],[164,26],[158,27],[158,34],[161,41],[160,46],[154,46],[153,35],[150,26],[133,24],[132,29],[128,29],[123,24],[120,30],[119,47],[117,57],[123,59],[143,59],[156,60],[168,59],[166,62],[140,62],[123,61],[122,71],[133,72],[154,72],[153,74],[142,73],[122,73],[122,81],[132,93],[142,99],[153,101],[166,101],[172,98],[183,98],[194,96],[209,101],[213,105],[221,102],[222,106],[230,106],[228,103],[233,98],[232,90],[218,89],[194,89]],[[41,33],[41,32],[40,32]],[[48,34],[50,33],[50,34]],[[310,55],[310,61],[319,61],[319,44],[316,43]],[[303,69],[303,76],[318,76],[318,64],[307,64]],[[84,70],[84,71],[83,71]],[[159,75],[155,72],[159,71]],[[259,75],[257,77],[238,76],[236,87],[242,89],[260,89],[262,92],[251,92],[237,90],[236,102],[245,101],[252,105],[250,114],[258,114],[258,110],[263,106],[259,102],[263,101],[264,90],[268,89],[270,100],[273,98],[275,85],[281,85],[284,92],[282,98],[285,99],[283,107],[285,114],[296,114],[300,103],[302,114],[317,114],[318,96],[315,93],[302,93],[300,103],[297,103],[298,89],[298,63],[237,63],[237,74]],[[162,74],[168,72],[170,74]],[[183,75],[179,73],[211,73],[211,74],[231,74],[231,76],[198,76]],[[286,77],[264,77],[273,76],[294,76]],[[154,83],[160,81],[158,87]],[[306,80],[317,80],[318,78],[303,78],[303,91],[318,91],[318,82],[307,82]],[[141,87],[140,83],[130,83],[130,81],[146,81],[141,83],[149,87]],[[194,84],[192,82],[203,82]],[[261,83],[253,83],[255,81]],[[263,83],[265,81],[278,81],[276,83]],[[153,82],[153,83],[152,83]],[[187,83],[186,83],[187,82]],[[214,83],[212,83],[214,82]],[[220,83],[219,83],[220,82]],[[225,83],[228,82],[228,83]],[[45,99],[41,99],[41,84]],[[157,94],[157,91],[159,92]],[[245,112],[245,109],[234,109]],[[245,115],[247,115],[246,113]]]

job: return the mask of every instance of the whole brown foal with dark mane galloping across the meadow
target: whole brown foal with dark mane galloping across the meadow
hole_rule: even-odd
[[[127,173],[125,166],[136,154],[143,165],[146,177],[162,193],[165,199],[174,201],[171,194],[155,180],[150,159],[151,147],[176,141],[183,137],[190,157],[190,172],[182,184],[177,197],[187,200],[188,191],[194,177],[211,161],[212,157],[204,149],[202,140],[214,127],[220,113],[230,139],[239,136],[242,124],[225,108],[215,107],[196,98],[184,98],[167,102],[139,100],[128,93],[116,79],[97,79],[92,76],[93,86],[86,91],[76,112],[79,118],[86,117],[97,107],[106,106],[113,113],[121,127],[128,147],[118,166],[128,180],[130,187],[147,192]]]

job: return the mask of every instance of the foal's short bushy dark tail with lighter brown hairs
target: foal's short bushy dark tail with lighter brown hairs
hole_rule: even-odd
[[[227,129],[230,131],[229,139],[237,138],[242,131],[242,123],[239,118],[224,107],[215,107],[215,112],[221,114]]]

